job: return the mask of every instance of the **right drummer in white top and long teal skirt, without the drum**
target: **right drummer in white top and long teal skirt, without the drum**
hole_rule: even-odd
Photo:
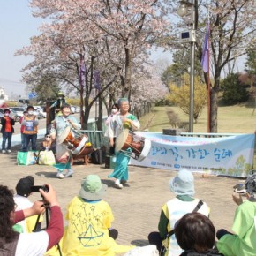
[[[109,144],[110,147],[114,145],[114,138],[122,133],[124,129],[129,129],[131,131],[139,130],[140,124],[137,117],[133,116],[129,113],[130,104],[128,99],[122,98],[118,101],[119,105],[119,113],[115,115],[109,125]],[[122,154],[120,152],[116,152],[116,166],[115,169],[109,177],[116,178],[114,186],[118,189],[123,188],[123,184],[125,184],[128,180],[128,162],[130,160],[129,153],[132,153],[132,148],[127,148],[128,154]]]

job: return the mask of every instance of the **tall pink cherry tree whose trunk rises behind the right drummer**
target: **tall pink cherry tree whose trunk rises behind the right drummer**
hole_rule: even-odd
[[[158,0],[33,0],[34,15],[64,19],[76,26],[91,29],[98,38],[109,35],[122,47],[124,63],[117,63],[122,96],[130,96],[134,57],[148,43],[168,34],[171,28],[167,13],[169,1]]]

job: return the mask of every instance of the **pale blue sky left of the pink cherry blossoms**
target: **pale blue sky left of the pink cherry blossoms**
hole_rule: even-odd
[[[13,56],[17,49],[29,44],[39,34],[41,19],[32,16],[27,0],[0,0],[0,87],[6,93],[25,95],[20,70],[29,62],[25,56]]]

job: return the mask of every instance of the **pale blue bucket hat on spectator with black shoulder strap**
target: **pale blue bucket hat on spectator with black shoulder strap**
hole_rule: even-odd
[[[186,169],[179,170],[176,177],[169,180],[169,190],[176,195],[193,196],[195,190],[192,172]]]

